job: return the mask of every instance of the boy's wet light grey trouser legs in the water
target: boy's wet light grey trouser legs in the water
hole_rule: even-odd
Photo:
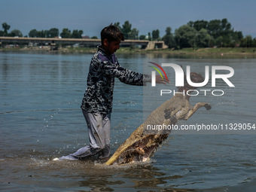
[[[87,113],[84,110],[83,114],[87,121],[90,145],[78,149],[74,154],[60,157],[60,160],[85,159],[99,152],[101,152],[99,158],[108,157],[110,151],[110,114]]]

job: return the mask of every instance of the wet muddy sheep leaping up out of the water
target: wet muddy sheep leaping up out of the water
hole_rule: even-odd
[[[203,77],[195,72],[190,73],[190,79],[194,83],[203,82]],[[184,87],[178,87],[178,92],[187,92],[194,90],[197,87],[192,87],[185,81]],[[189,117],[201,107],[207,110],[211,109],[211,105],[206,102],[198,102],[191,106],[189,103],[190,96],[182,93],[175,94],[171,99],[164,102],[157,109],[149,114],[145,123],[139,126],[119,148],[111,158],[105,163],[111,165],[113,163],[125,164],[138,161],[149,160],[157,151],[161,143],[167,139],[170,130],[149,130],[148,126],[172,126],[178,120],[187,120]]]

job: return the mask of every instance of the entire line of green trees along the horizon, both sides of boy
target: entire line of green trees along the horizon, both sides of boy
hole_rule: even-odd
[[[121,32],[123,32],[125,39],[134,40],[149,40],[149,41],[164,41],[169,48],[181,49],[184,47],[256,47],[256,38],[251,35],[242,35],[241,31],[234,31],[231,23],[227,19],[222,20],[197,20],[189,21],[187,24],[175,29],[172,33],[170,26],[166,27],[166,34],[160,37],[160,30],[154,29],[146,35],[139,35],[139,30],[132,27],[132,24],[126,20],[122,26],[120,23],[114,23]],[[22,32],[18,29],[12,30],[8,33],[11,26],[7,23],[2,23],[3,31],[0,31],[0,36],[19,36],[23,37]],[[29,32],[31,38],[81,38],[83,30],[75,29],[73,31],[68,28],[59,29],[52,28],[49,30],[32,29]],[[87,38],[89,38],[87,36]],[[97,38],[93,36],[92,38]]]

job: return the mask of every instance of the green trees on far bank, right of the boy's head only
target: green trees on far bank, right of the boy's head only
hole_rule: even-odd
[[[139,39],[149,41],[164,41],[169,48],[181,49],[184,47],[256,47],[256,38],[251,35],[243,37],[241,31],[234,31],[227,19],[222,20],[197,20],[189,21],[187,24],[175,29],[172,33],[171,27],[166,27],[166,34],[160,38],[159,29],[140,35],[139,30],[132,29],[129,21],[114,23],[125,39]]]

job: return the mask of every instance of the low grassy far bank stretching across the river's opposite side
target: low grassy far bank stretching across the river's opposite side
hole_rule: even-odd
[[[50,50],[49,46],[40,47],[8,47],[0,48],[0,51],[43,51],[53,53],[96,53],[97,48],[88,47],[59,47],[57,50]],[[130,47],[120,47],[117,53],[161,53],[180,56],[239,56],[256,58],[256,47],[218,47],[218,48],[184,48],[181,50],[154,49],[142,50]]]

